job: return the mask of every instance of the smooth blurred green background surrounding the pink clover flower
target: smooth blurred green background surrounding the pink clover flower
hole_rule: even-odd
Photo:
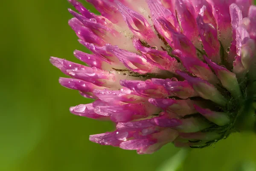
[[[86,51],[67,24],[66,0],[5,0],[1,7],[0,171],[172,171],[179,164],[172,144],[137,155],[92,143],[90,134],[113,125],[69,113],[89,100],[61,87],[64,75],[49,63],[50,56],[78,62],[73,50]],[[189,150],[181,170],[240,171],[256,162],[255,146],[254,134],[235,133]]]

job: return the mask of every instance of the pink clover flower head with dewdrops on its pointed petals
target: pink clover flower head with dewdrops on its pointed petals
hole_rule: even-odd
[[[151,154],[169,142],[196,147],[220,138],[206,130],[228,125],[222,109],[229,96],[242,96],[239,79],[255,52],[253,2],[87,1],[101,15],[69,0],[79,12],[69,9],[69,25],[92,52],[73,54],[87,65],[50,61],[71,77],[60,78],[62,86],[95,99],[70,107],[71,113],[115,123],[116,130],[90,141]]]

